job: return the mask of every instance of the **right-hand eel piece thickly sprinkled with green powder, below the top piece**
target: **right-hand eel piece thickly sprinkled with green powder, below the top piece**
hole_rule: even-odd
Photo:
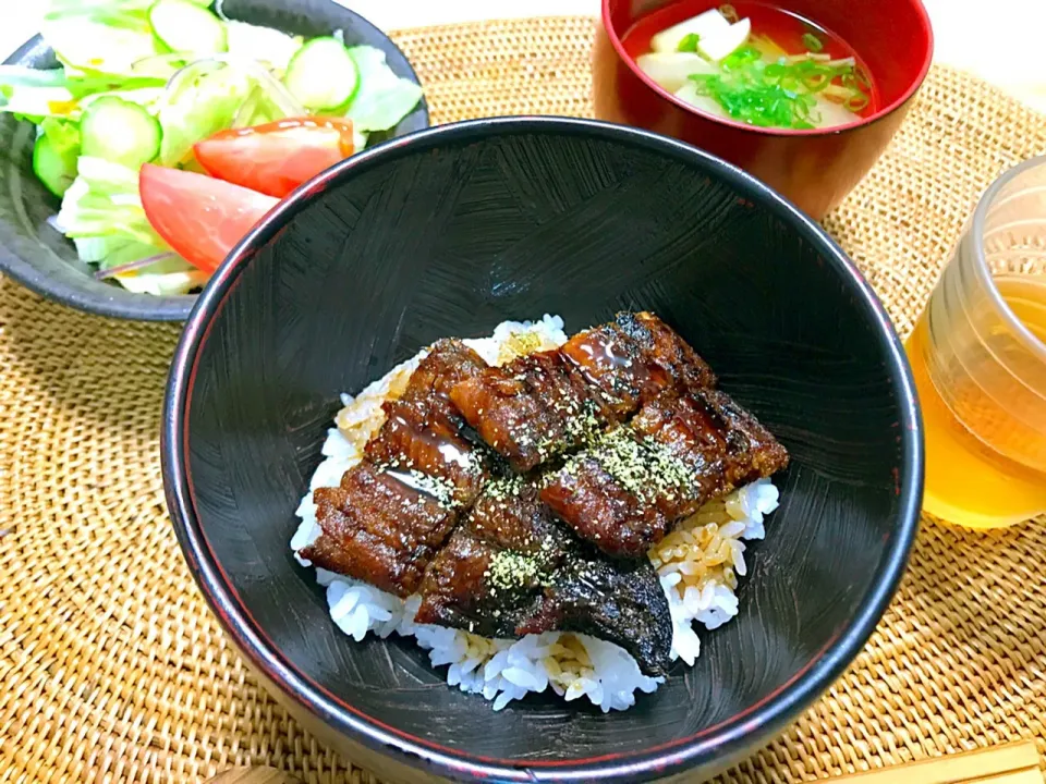
[[[784,448],[728,395],[668,392],[570,458],[542,500],[608,555],[641,558],[706,501],[787,464]]]

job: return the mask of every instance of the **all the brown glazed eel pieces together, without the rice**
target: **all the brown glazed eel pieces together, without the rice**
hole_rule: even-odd
[[[419,623],[593,634],[660,674],[672,622],[647,548],[783,453],[645,313],[499,367],[439,341],[384,404],[364,461],[315,492],[324,532],[302,554],[419,593]]]

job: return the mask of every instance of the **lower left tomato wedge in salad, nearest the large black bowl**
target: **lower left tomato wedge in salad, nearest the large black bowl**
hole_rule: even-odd
[[[233,246],[280,203],[206,174],[146,163],[138,174],[145,217],[171,249],[214,272]]]

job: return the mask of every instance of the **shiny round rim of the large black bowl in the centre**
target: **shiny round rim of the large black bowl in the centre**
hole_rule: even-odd
[[[567,760],[511,760],[470,755],[404,733],[342,702],[301,672],[267,637],[214,555],[196,515],[187,469],[188,403],[200,350],[240,273],[287,222],[330,187],[388,160],[438,148],[445,144],[491,135],[552,134],[617,142],[696,164],[762,203],[804,232],[826,264],[840,275],[855,302],[865,308],[885,360],[892,369],[891,392],[900,409],[900,466],[895,473],[899,498],[897,525],[876,567],[871,588],[850,624],[786,684],[759,702],[695,735],[636,752],[613,752]],[[924,448],[919,403],[907,356],[890,318],[871,285],[842,249],[813,220],[758,180],[710,154],[658,134],[574,118],[494,118],[441,125],[386,142],[346,159],[302,186],[256,225],[234,248],[200,295],[182,332],[168,378],[161,430],[161,463],[167,503],[175,534],[194,578],[226,633],[252,666],[281,696],[318,718],[342,736],[401,762],[458,780],[497,781],[636,781],[668,775],[698,764],[737,760],[755,740],[767,742],[838,678],[860,652],[897,590],[919,528],[922,505]],[[448,687],[449,688],[449,687]]]

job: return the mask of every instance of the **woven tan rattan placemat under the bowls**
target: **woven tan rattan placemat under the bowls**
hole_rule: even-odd
[[[396,38],[436,122],[589,113],[589,20]],[[1043,152],[1046,118],[931,73],[892,147],[827,220],[902,332],[980,193]],[[158,450],[178,331],[0,280],[0,782],[195,782],[252,763],[380,781],[266,696],[182,562]],[[1046,752],[1043,523],[987,535],[927,523],[849,673],[725,781],[804,781],[1022,737]]]

